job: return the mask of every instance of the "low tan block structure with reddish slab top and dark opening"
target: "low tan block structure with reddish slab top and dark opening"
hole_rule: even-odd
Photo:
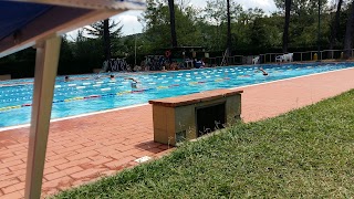
[[[153,104],[154,140],[176,146],[240,119],[241,93],[215,90],[149,101]]]

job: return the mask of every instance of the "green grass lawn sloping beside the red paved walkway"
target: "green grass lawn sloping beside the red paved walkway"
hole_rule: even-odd
[[[171,155],[55,198],[350,198],[354,91],[236,124]]]

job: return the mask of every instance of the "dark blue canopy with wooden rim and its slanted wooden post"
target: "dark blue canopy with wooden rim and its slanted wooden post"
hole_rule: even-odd
[[[60,35],[145,7],[144,0],[0,0],[0,57],[37,49],[25,198],[41,197]]]

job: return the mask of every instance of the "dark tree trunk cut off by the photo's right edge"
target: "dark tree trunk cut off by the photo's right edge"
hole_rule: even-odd
[[[344,38],[344,59],[352,56],[353,48],[354,1],[352,1]]]

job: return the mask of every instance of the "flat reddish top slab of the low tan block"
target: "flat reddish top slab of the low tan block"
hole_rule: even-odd
[[[212,100],[218,100],[227,96],[232,96],[243,93],[242,90],[212,90],[201,93],[195,93],[189,95],[180,95],[176,97],[160,98],[148,101],[149,104],[166,106],[166,107],[177,107],[185,106],[189,104],[197,104],[200,102],[208,102]]]

